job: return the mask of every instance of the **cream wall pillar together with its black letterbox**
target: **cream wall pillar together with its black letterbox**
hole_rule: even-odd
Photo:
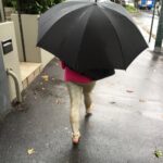
[[[15,39],[15,30],[13,22],[0,23],[0,47],[4,70],[12,70],[16,75],[22,91],[21,68],[17,54],[17,45]],[[0,72],[1,75],[1,72]],[[16,98],[15,83],[11,75],[8,75],[9,95],[12,102]],[[1,93],[1,91],[0,91]]]

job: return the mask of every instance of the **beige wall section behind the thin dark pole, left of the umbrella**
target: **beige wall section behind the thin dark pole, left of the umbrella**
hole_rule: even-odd
[[[40,49],[36,47],[37,35],[38,35],[38,17],[39,17],[39,15],[30,15],[30,14],[22,14],[21,15],[27,62],[36,62],[36,63],[41,62]],[[11,18],[15,25],[20,61],[24,61],[22,43],[21,43],[18,16],[17,16],[17,14],[12,14]]]

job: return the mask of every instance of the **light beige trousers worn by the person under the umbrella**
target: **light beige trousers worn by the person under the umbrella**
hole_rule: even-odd
[[[78,83],[67,83],[67,89],[71,98],[71,115],[70,122],[72,126],[73,134],[79,134],[79,108],[82,102],[82,97],[84,96],[84,103],[86,111],[91,105],[91,90],[93,89],[96,83],[91,82],[89,84],[78,84]]]

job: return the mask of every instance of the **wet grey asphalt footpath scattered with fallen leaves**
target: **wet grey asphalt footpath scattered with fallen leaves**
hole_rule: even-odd
[[[97,83],[89,120],[82,105],[78,148],[72,147],[70,99],[61,74],[51,61],[1,124],[0,163],[163,162],[154,155],[155,149],[163,151],[163,55],[147,50],[126,72]]]

